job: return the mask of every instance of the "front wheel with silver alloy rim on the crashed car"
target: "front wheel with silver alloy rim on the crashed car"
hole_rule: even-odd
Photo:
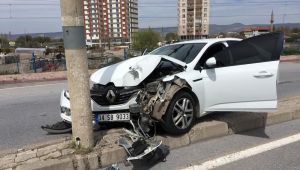
[[[186,91],[177,92],[163,116],[163,129],[172,135],[187,133],[193,126],[196,113],[195,99]]]

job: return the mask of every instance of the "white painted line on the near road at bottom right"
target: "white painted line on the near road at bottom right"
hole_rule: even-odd
[[[294,142],[300,141],[300,133],[289,136],[286,138],[282,138],[276,141],[272,141],[266,144],[262,144],[259,146],[255,146],[253,148],[249,148],[243,151],[239,151],[236,153],[228,154],[213,160],[206,161],[200,165],[194,165],[185,168],[184,170],[206,170],[206,169],[214,169],[226,164],[229,164],[231,162],[235,162],[241,159],[245,159],[263,152],[270,151],[272,149],[276,149]]]

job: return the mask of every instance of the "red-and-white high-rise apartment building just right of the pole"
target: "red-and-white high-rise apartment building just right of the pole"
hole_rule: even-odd
[[[138,31],[138,0],[83,0],[87,44],[131,43]]]

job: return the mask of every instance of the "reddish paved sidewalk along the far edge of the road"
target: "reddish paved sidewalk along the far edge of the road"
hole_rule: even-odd
[[[280,61],[281,62],[296,62],[296,61],[300,61],[300,56],[299,55],[282,56]],[[95,71],[96,70],[90,70],[89,73],[92,74]],[[0,75],[0,84],[55,81],[55,80],[66,80],[66,79],[67,79],[66,71],[15,74],[15,75]]]

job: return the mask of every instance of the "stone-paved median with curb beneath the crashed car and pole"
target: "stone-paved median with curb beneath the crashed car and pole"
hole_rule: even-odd
[[[161,139],[171,149],[175,149],[211,138],[264,128],[273,124],[300,119],[299,103],[300,97],[281,100],[279,111],[275,113],[215,113],[203,118],[185,135],[157,136],[157,138]],[[99,169],[99,167],[103,168],[126,161],[127,153],[122,147],[114,143],[121,135],[121,131],[111,129],[102,131],[100,134],[100,144],[97,144],[94,151],[87,155],[74,155],[72,149],[68,148],[61,151],[55,150],[55,148],[59,148],[62,142],[70,143],[70,138],[31,145],[22,151],[1,152],[0,169]],[[43,156],[34,158],[32,154]],[[26,159],[26,161],[20,164],[20,162],[16,163],[17,159]]]

